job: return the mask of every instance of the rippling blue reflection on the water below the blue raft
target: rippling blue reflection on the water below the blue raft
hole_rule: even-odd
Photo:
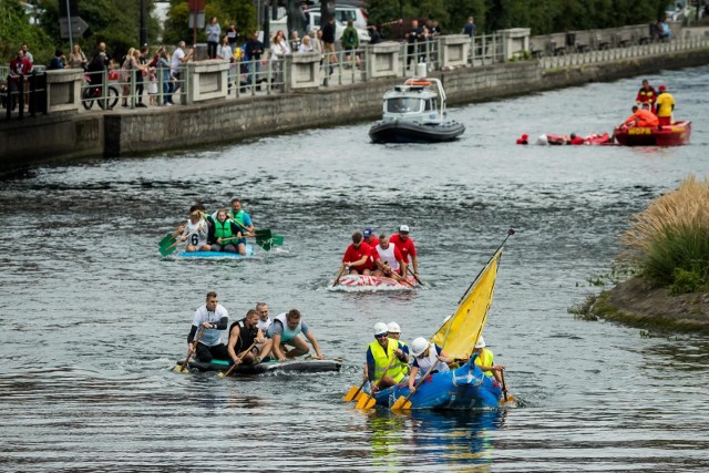
[[[411,411],[414,450],[438,459],[443,471],[469,471],[465,466],[493,462],[492,431],[504,423],[505,409],[442,412]],[[482,470],[487,471],[484,466]]]

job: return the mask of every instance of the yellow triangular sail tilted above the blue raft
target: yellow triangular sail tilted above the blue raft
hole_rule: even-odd
[[[482,335],[487,320],[487,310],[492,305],[501,256],[502,246],[490,258],[487,266],[467,290],[453,317],[448,319],[431,338],[431,341],[443,348],[449,357],[466,360],[473,351],[477,337]]]

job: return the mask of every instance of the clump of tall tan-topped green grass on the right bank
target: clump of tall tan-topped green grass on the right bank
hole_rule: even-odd
[[[709,282],[709,178],[690,175],[672,191],[633,215],[620,237],[620,260],[674,292],[706,288]],[[672,287],[672,285],[677,285]],[[680,287],[681,286],[681,287]]]

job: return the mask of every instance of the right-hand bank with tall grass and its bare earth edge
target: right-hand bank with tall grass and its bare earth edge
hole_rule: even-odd
[[[634,215],[617,263],[636,276],[568,309],[585,320],[709,332],[709,177],[691,175]]]

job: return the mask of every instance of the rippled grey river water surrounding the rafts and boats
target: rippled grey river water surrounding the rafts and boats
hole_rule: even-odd
[[[689,146],[515,146],[610,131],[640,79],[452,111],[455,143],[373,145],[369,123],[209,150],[45,166],[0,191],[3,471],[707,471],[709,340],[576,320],[630,214],[709,169],[709,68],[650,76],[693,121]],[[240,196],[286,236],[250,260],[161,258],[196,200]],[[412,228],[425,288],[328,290],[350,234]],[[507,241],[485,339],[516,405],[363,413],[377,321],[428,337]],[[607,279],[606,284],[608,282]],[[216,290],[233,318],[299,308],[340,373],[171,371]]]

